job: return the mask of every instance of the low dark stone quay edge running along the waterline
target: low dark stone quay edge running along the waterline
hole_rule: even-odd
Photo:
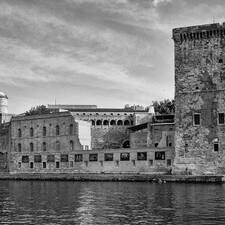
[[[156,183],[225,183],[223,175],[165,175],[133,173],[21,173],[0,174],[0,180],[40,181],[121,181]]]

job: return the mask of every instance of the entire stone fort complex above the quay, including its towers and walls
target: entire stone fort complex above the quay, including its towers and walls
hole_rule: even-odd
[[[48,105],[50,114],[15,116],[0,93],[0,171],[223,175],[225,24],[176,28],[172,37],[175,115]]]

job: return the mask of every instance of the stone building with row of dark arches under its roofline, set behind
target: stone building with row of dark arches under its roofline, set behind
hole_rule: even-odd
[[[68,110],[79,120],[90,121],[91,148],[128,148],[129,130],[133,125],[149,121],[151,114],[140,106],[98,108],[96,105],[48,105],[52,111]]]

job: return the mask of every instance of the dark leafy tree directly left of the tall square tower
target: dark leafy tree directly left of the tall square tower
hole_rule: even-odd
[[[158,114],[174,114],[175,113],[175,101],[164,99],[163,101],[153,101],[152,102],[155,113]]]

